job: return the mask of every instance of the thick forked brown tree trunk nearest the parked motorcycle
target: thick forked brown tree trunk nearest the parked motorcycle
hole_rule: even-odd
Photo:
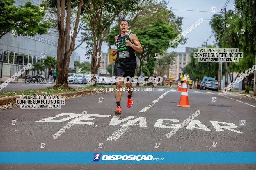
[[[57,9],[57,25],[58,25],[58,47],[57,47],[57,82],[56,86],[62,85],[62,82],[68,78],[68,66],[70,56],[75,49],[75,40],[77,37],[80,14],[82,10],[83,0],[47,0],[47,5],[50,8]],[[87,3],[84,4],[87,6]],[[72,10],[76,9],[73,16]],[[75,22],[72,24],[72,18]],[[71,25],[74,27],[71,29]],[[74,32],[70,32],[73,30]],[[70,34],[71,33],[71,34]],[[64,84],[68,87],[68,82]]]

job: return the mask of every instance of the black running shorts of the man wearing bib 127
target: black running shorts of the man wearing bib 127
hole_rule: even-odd
[[[136,63],[122,65],[120,63],[115,63],[115,76],[116,77],[133,77],[136,69]]]

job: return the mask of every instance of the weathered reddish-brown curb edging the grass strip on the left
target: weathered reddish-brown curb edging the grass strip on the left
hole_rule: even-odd
[[[99,91],[102,93],[103,91]],[[104,92],[108,93],[108,92]],[[39,94],[39,93],[35,93]],[[35,95],[32,94],[32,95]],[[41,93],[40,93],[41,94]],[[58,93],[58,94],[52,94],[52,95],[61,95],[61,97],[68,97],[68,96],[81,96],[81,95],[88,95],[88,94],[99,94],[96,91],[86,91],[86,90],[81,90],[78,92],[67,92],[67,93]],[[16,105],[16,98],[20,98],[20,95],[15,95],[15,96],[8,96],[8,97],[1,97],[0,98],[0,106],[7,105],[9,102],[13,101],[13,103]]]

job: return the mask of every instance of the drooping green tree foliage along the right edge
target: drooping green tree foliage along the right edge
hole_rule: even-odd
[[[235,1],[237,13],[229,10],[226,14],[226,21],[223,14],[215,14],[211,21],[211,27],[216,37],[216,42],[222,48],[239,48],[243,52],[243,58],[239,62],[230,63],[228,72],[243,73],[248,70],[255,61],[256,50],[256,2]],[[226,28],[225,24],[226,23]],[[244,34],[240,30],[244,29]],[[247,90],[248,77],[245,78],[245,92]]]

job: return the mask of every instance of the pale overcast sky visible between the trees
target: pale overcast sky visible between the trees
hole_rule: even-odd
[[[205,42],[209,36],[212,34],[211,27],[209,25],[211,16],[216,14],[214,12],[195,12],[195,11],[183,11],[183,10],[197,10],[197,11],[211,11],[211,7],[217,7],[216,12],[220,12],[221,8],[225,5],[227,0],[170,0],[168,4],[168,9],[172,7],[173,12],[176,16],[183,17],[182,20],[182,30],[186,30],[189,28],[195,21],[202,18],[205,19],[203,23],[198,25],[194,30],[192,30],[189,34],[185,37],[188,39],[185,45],[179,45],[177,48],[169,48],[167,51],[176,51],[176,52],[185,52],[185,47],[198,47],[201,46],[203,42]],[[179,9],[179,10],[175,10]],[[232,9],[234,10],[234,0],[230,0],[226,7],[227,11]],[[188,19],[186,19],[188,18]],[[213,43],[214,37],[208,40],[207,44],[214,44]],[[86,44],[83,43],[81,47],[85,47]],[[102,45],[102,52],[108,52],[108,46],[106,43]],[[86,50],[82,48],[77,48],[75,51],[81,56],[81,61],[85,61],[86,57],[84,54]]]

